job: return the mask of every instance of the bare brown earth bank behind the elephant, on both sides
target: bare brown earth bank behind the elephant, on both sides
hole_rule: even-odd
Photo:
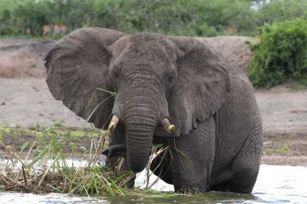
[[[251,61],[244,42],[257,41],[239,36],[198,39],[243,70]],[[49,126],[58,121],[72,127],[83,125],[84,120],[56,101],[46,85],[43,58],[53,44],[43,40],[0,40],[0,125]],[[261,163],[307,165],[307,90],[292,90],[283,84],[271,90],[257,89],[255,94],[264,122]]]

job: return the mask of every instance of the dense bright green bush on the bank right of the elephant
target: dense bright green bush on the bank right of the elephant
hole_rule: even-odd
[[[255,87],[270,88],[287,79],[307,84],[307,21],[286,20],[258,29],[259,42],[251,46],[248,77]]]

